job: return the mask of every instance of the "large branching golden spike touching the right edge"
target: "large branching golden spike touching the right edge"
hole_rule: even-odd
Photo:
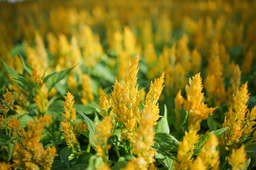
[[[252,111],[248,111],[246,105],[250,94],[248,93],[247,83],[240,87],[240,90],[233,96],[232,106],[228,109],[225,115],[225,120],[222,127],[229,127],[227,131],[221,134],[220,148],[229,150],[227,146],[232,146],[234,143],[239,143],[246,136],[250,136],[255,129],[254,118],[255,108]]]

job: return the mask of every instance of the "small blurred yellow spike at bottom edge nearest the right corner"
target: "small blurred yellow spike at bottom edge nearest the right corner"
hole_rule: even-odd
[[[246,160],[244,145],[241,145],[237,150],[232,150],[232,154],[228,157],[228,162],[232,165],[232,170],[244,169],[246,167]]]

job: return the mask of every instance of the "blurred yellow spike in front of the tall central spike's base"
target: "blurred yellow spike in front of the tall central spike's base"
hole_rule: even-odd
[[[153,111],[150,106],[142,111],[140,125],[135,134],[135,143],[132,145],[133,153],[138,157],[144,157],[148,166],[155,161],[154,155],[156,152],[156,150],[150,148],[154,145],[154,122],[152,120],[155,113]]]

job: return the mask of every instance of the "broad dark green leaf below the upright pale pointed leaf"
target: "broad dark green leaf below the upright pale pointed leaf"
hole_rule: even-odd
[[[166,133],[156,133],[154,139],[156,143],[152,146],[153,148],[163,150],[164,152],[177,152],[179,141],[172,135]]]

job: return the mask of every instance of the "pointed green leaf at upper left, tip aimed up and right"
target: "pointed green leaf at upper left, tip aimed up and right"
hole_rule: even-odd
[[[74,67],[76,67],[76,66],[74,66]],[[45,83],[47,89],[50,91],[52,89],[52,87],[54,87],[54,85],[56,85],[56,83],[58,83],[60,80],[65,78],[67,73],[69,71],[71,71],[72,69],[74,69],[74,67],[70,67],[70,68],[65,69],[63,71],[55,72],[55,73],[52,73],[52,74],[49,74],[49,75],[45,76],[43,82]]]

